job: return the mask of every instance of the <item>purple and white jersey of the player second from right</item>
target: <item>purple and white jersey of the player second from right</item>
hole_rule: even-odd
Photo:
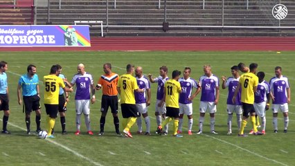
[[[266,81],[260,82],[257,86],[254,102],[255,103],[266,102],[268,94],[269,94],[269,83],[267,83]]]

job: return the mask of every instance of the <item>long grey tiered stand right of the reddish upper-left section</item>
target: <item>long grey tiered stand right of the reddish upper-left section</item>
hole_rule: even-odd
[[[44,1],[44,0],[43,0]],[[61,3],[60,3],[61,2]],[[295,26],[295,2],[281,0],[288,16],[278,21],[271,14],[278,1],[269,0],[167,0],[164,32],[164,1],[157,0],[51,0],[50,22],[103,21],[107,35],[294,35],[294,29],[249,28],[250,26]],[[205,3],[204,3],[205,2]],[[46,24],[48,8],[36,6],[36,24]],[[222,17],[224,13],[224,17]],[[224,26],[247,26],[226,28]],[[100,28],[91,28],[92,34]]]

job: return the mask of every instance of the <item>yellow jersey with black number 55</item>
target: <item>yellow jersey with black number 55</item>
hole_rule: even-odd
[[[43,78],[45,85],[44,91],[44,104],[58,104],[58,95],[60,87],[64,88],[64,81],[61,77],[56,75],[45,75]]]

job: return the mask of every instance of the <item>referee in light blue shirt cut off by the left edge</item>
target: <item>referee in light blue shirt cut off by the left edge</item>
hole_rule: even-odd
[[[8,84],[6,71],[8,70],[8,64],[5,61],[0,62],[0,111],[3,110],[3,128],[1,133],[10,134],[7,130],[8,118],[9,118],[9,99],[8,99]]]

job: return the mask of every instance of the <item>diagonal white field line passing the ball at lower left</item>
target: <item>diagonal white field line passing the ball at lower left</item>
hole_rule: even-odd
[[[0,119],[0,120],[1,120],[1,119]],[[3,121],[3,120],[1,120],[1,121]],[[16,124],[13,124],[13,123],[11,123],[11,122],[8,122],[8,124],[10,124],[10,126],[12,126],[12,127],[15,127],[15,128],[18,128],[18,129],[21,129],[21,130],[26,131],[26,129],[24,129],[23,127],[19,127],[19,126],[17,126]],[[53,143],[53,144],[56,145],[57,147],[62,147],[63,149],[66,149],[67,151],[70,151],[72,154],[75,154],[75,156],[78,156],[78,157],[80,157],[80,158],[83,158],[84,160],[87,160],[89,163],[91,163],[91,164],[93,164],[93,165],[102,166],[102,164],[100,164],[100,163],[98,163],[98,162],[96,162],[96,161],[94,161],[94,160],[91,160],[90,158],[87,158],[86,156],[83,156],[82,154],[79,154],[78,152],[76,152],[76,151],[70,149],[69,147],[66,147],[66,146],[64,146],[64,145],[61,145],[60,143],[55,142],[54,140],[51,140],[51,139],[45,139],[45,140],[47,140],[48,142]]]

